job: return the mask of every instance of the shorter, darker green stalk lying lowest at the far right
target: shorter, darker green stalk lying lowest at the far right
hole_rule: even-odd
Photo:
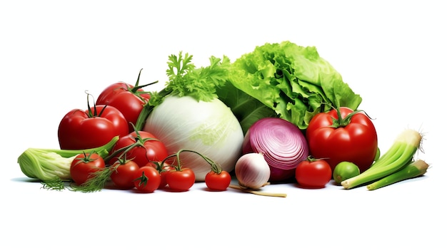
[[[405,179],[419,177],[424,175],[427,172],[427,169],[428,164],[426,162],[424,162],[423,160],[416,160],[415,162],[411,162],[410,164],[406,165],[401,170],[393,172],[393,174],[391,175],[388,175],[376,182],[368,184],[366,188],[368,188],[368,190],[375,190],[396,182],[403,181]]]

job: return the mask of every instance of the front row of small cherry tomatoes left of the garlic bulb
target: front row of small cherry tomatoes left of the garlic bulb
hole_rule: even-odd
[[[113,165],[107,165],[106,160],[98,154],[84,153],[71,162],[70,174],[77,185],[91,185],[94,188],[94,184],[101,182],[101,172],[105,172],[104,180],[110,179],[114,188],[136,189],[137,192],[144,193],[166,187],[172,192],[185,192],[194,185],[196,177],[193,170],[163,165],[162,162],[148,162],[140,167],[134,160],[126,160],[124,157],[119,158]],[[231,175],[226,171],[217,173],[211,170],[206,177],[206,185],[213,191],[224,191],[230,182]],[[100,188],[102,187],[98,189]]]

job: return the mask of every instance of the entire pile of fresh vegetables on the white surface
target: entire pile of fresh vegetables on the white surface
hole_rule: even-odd
[[[59,149],[29,148],[18,159],[27,177],[48,189],[104,188],[185,192],[196,182],[262,192],[296,183],[373,190],[426,173],[415,159],[420,132],[407,129],[381,155],[360,95],[315,47],[266,43],[231,63],[169,56],[159,91],[114,83],[87,108],[61,118]],[[93,100],[93,103],[91,103]],[[232,179],[235,181],[232,183]],[[235,184],[237,183],[237,184]]]

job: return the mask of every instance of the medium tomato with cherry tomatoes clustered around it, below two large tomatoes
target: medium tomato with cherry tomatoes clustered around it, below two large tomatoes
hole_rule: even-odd
[[[163,142],[149,132],[134,131],[119,137],[106,158],[97,154],[78,155],[71,164],[70,173],[74,182],[86,189],[89,186],[93,190],[100,189],[101,180],[104,183],[110,179],[117,189],[154,192],[168,185],[172,191],[189,190],[196,179],[194,172],[186,167],[159,167],[167,157]]]

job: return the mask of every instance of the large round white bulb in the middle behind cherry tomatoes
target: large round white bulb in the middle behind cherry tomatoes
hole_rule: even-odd
[[[143,130],[161,140],[169,155],[182,149],[194,150],[228,172],[234,170],[242,152],[241,125],[217,98],[206,102],[170,95],[154,108]],[[194,153],[183,153],[180,160],[183,167],[194,171],[198,182],[203,182],[211,170],[209,163]]]

